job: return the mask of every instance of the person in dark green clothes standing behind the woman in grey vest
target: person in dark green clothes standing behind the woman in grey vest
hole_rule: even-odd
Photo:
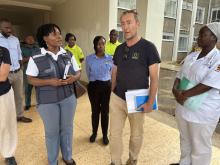
[[[33,85],[28,83],[26,70],[29,58],[33,55],[34,51],[37,51],[39,47],[35,43],[34,37],[28,35],[24,39],[24,43],[21,44],[22,51],[22,63],[23,63],[23,80],[24,80],[24,93],[25,93],[25,107],[24,110],[29,110],[31,107],[31,93]]]

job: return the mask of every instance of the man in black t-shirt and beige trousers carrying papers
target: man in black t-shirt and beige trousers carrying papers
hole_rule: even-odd
[[[144,112],[151,112],[158,88],[160,58],[154,44],[137,35],[139,20],[134,10],[122,13],[120,21],[126,42],[117,47],[113,57],[113,92],[110,101],[111,164],[121,164],[122,132],[128,117],[131,136],[126,164],[136,165],[143,141],[145,113],[128,113],[125,92],[149,88],[149,99],[140,108]]]

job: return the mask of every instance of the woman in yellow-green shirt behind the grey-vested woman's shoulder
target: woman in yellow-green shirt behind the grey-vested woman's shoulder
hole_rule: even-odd
[[[76,44],[76,36],[72,33],[67,33],[65,37],[65,41],[67,45],[65,46],[65,50],[70,51],[72,55],[75,57],[77,64],[80,69],[82,68],[82,62],[84,60],[84,54],[82,49]]]

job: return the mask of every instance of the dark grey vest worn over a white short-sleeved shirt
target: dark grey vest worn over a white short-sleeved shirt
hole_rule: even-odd
[[[58,56],[57,61],[55,61],[51,55],[46,54],[42,55],[39,52],[36,55],[33,55],[33,60],[37,65],[39,74],[37,78],[40,79],[50,79],[58,78],[62,79],[65,66],[68,62],[71,62],[71,54],[62,54]],[[75,74],[73,66],[69,68],[68,74]],[[71,96],[74,93],[73,85],[63,85],[63,86],[37,86],[36,89],[36,98],[38,104],[51,104],[62,101],[63,99]]]

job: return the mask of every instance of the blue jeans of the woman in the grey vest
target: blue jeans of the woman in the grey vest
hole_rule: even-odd
[[[75,95],[58,103],[40,104],[37,108],[44,123],[47,155],[50,165],[57,165],[59,148],[61,148],[63,159],[72,159],[75,109]]]

